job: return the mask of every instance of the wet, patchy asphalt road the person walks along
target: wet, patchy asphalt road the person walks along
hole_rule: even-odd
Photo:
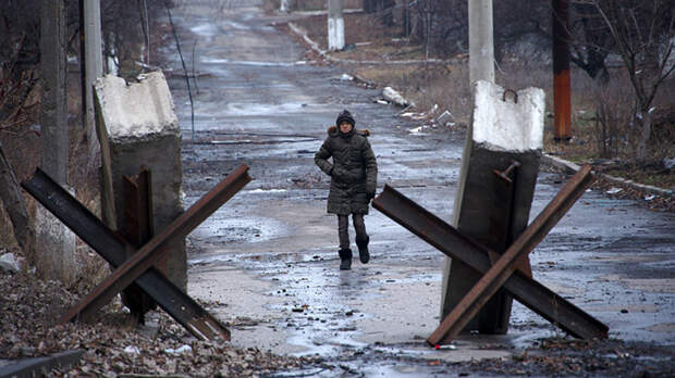
[[[444,255],[371,209],[371,262],[338,269],[329,179],[314,153],[348,109],[371,131],[379,190],[389,184],[450,219],[461,131],[426,129],[341,80],[345,68],[304,61],[302,46],[255,8],[218,13],[210,1],[174,11],[193,86],[195,134],[179,56],[169,84],[183,129],[186,207],[236,166],[254,180],[188,237],[188,291],[232,329],[232,343],[320,354],[345,371],[428,375],[415,361],[507,356],[562,335],[514,302],[507,336],[466,336],[433,351]],[[530,219],[567,177],[541,173]],[[378,190],[378,191],[379,191]],[[675,217],[587,192],[530,254],[535,278],[610,327],[610,337],[675,344]],[[353,232],[353,231],[352,231]],[[354,234],[352,234],[354,243]],[[353,245],[356,249],[356,245]],[[402,361],[408,361],[407,363]],[[318,373],[320,375],[320,373]]]

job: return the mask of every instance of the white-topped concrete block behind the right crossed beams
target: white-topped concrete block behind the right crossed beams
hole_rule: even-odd
[[[465,235],[503,252],[527,227],[543,143],[544,93],[538,88],[505,93],[504,88],[479,80],[474,85],[474,94],[452,223]],[[521,166],[510,188],[494,169],[504,171],[512,160]],[[461,261],[446,259],[441,318],[479,278]],[[505,333],[511,303],[505,293],[495,294],[465,331]]]

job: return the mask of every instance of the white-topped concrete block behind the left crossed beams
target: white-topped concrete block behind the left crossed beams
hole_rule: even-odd
[[[154,72],[135,84],[107,75],[96,81],[95,93],[103,220],[112,229],[124,228],[123,176],[145,165],[151,172],[154,228],[159,234],[184,212],[181,128],[164,75]],[[185,290],[185,242],[168,252],[168,278]]]

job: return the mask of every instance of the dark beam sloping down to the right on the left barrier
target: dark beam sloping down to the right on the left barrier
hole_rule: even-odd
[[[126,249],[133,249],[133,245],[110,230],[41,169],[36,169],[33,176],[21,185],[113,267],[124,264]],[[198,339],[220,337],[230,340],[230,331],[218,319],[156,268],[147,269],[136,279],[136,284]]]

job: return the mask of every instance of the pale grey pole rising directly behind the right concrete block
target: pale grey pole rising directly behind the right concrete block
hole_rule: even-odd
[[[492,0],[469,0],[469,84],[494,83]]]

